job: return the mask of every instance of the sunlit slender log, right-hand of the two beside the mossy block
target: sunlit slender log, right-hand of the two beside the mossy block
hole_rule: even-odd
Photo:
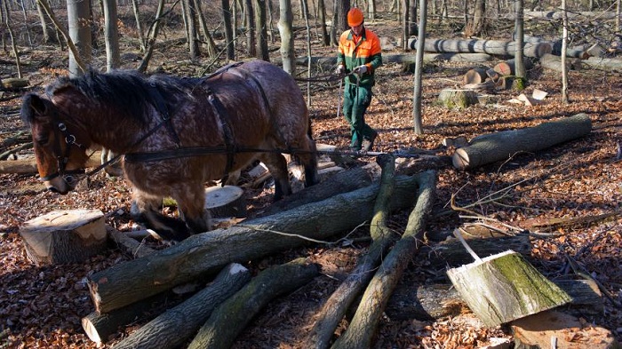
[[[383,260],[379,270],[371,279],[363,294],[363,299],[356,309],[350,325],[337,339],[333,348],[369,348],[371,338],[387,306],[388,299],[395,290],[403,271],[411,258],[419,251],[426,228],[427,215],[432,210],[435,194],[436,173],[421,173],[417,204],[411,211],[402,239]]]

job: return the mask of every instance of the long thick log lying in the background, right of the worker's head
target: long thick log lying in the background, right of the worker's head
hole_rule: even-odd
[[[417,39],[409,40],[411,48],[417,47]],[[476,40],[476,39],[426,39],[426,52],[453,52],[453,53],[487,53],[495,56],[514,56],[516,43],[503,40]],[[553,48],[548,43],[523,43],[522,53],[525,57],[542,57],[551,53]]]

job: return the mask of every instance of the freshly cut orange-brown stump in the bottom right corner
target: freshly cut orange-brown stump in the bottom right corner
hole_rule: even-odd
[[[516,349],[620,349],[609,329],[555,311],[547,311],[512,322]],[[552,338],[555,344],[552,345]]]

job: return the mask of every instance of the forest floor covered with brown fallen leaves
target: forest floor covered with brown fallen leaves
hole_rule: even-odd
[[[369,25],[380,35],[395,36],[379,23]],[[385,33],[387,31],[387,33]],[[298,33],[304,36],[304,33]],[[160,47],[152,67],[177,75],[195,75],[203,65],[184,59],[184,45]],[[271,45],[271,48],[277,46]],[[314,55],[331,56],[334,49],[313,47]],[[304,56],[304,45],[297,54]],[[400,53],[383,52],[383,54]],[[272,57],[276,57],[274,52]],[[31,88],[39,91],[55,74],[62,74],[66,52],[28,50],[22,61],[27,63],[26,76]],[[11,60],[4,52],[0,57]],[[60,62],[60,63],[59,63]],[[126,67],[136,63],[126,61]],[[486,63],[492,67],[496,61]],[[415,164],[419,171],[434,169],[437,173],[435,207],[428,218],[427,240],[433,247],[454,228],[471,220],[459,218],[452,211],[452,195],[462,207],[469,206],[486,218],[520,227],[532,233],[555,233],[544,239],[532,239],[530,260],[549,279],[578,278],[570,261],[581,266],[600,282],[604,309],[586,314],[588,325],[602,326],[622,341],[622,161],[617,158],[622,142],[622,75],[583,69],[570,71],[570,104],[561,102],[559,73],[547,71],[536,64],[529,70],[525,94],[538,89],[548,93],[546,99],[533,107],[509,102],[521,92],[496,91],[497,103],[449,109],[435,103],[438,93],[458,88],[462,75],[474,64],[436,61],[423,67],[422,123],[424,133],[413,131],[413,76],[402,73],[401,66],[388,64],[377,71],[378,83],[367,114],[367,122],[379,131],[376,150],[395,152],[399,149],[428,150],[435,155],[450,156],[454,147],[443,147],[444,138],[476,136],[522,129],[586,113],[592,129],[586,137],[530,154],[519,154],[504,162],[491,163],[472,171],[457,171],[451,163]],[[8,69],[3,67],[3,69]],[[299,71],[302,70],[299,67]],[[3,72],[5,74],[5,72]],[[323,72],[314,74],[322,75]],[[3,76],[4,77],[4,76]],[[300,83],[306,93],[306,84]],[[1,104],[4,117],[0,120],[2,140],[18,131],[28,131],[19,116],[20,96],[25,91],[6,91]],[[15,98],[12,98],[15,97]],[[310,93],[310,114],[314,138],[321,143],[347,149],[349,129],[345,120],[336,115],[338,84],[314,83]],[[3,149],[4,150],[4,149]],[[19,157],[28,157],[28,151]],[[363,158],[361,164],[373,162]],[[81,185],[76,192],[60,196],[44,190],[34,175],[0,175],[0,347],[10,348],[90,348],[97,347],[84,334],[80,319],[93,311],[86,276],[131,258],[121,250],[110,249],[84,264],[68,266],[36,266],[25,253],[19,230],[25,221],[51,210],[97,209],[107,223],[121,231],[138,228],[129,218],[131,189],[123,178],[94,176],[90,186]],[[503,192],[490,200],[490,194]],[[249,215],[265,208],[272,196],[266,187],[247,193]],[[390,226],[403,232],[409,211],[396,212]],[[603,219],[599,218],[607,215]],[[562,222],[562,223],[560,223]],[[348,232],[344,232],[346,234]],[[362,226],[355,234],[369,233]],[[339,239],[341,236],[336,236]],[[149,242],[164,248],[158,242]],[[366,243],[331,247],[310,245],[282,254],[249,261],[245,266],[253,273],[292,258],[307,257],[323,268],[323,274],[303,288],[271,302],[251,321],[235,342],[235,348],[298,348],[313,314],[339,286],[356,258],[364,253]],[[403,275],[401,285],[447,283],[445,267],[430,268],[427,254],[413,256]],[[174,304],[179,299],[170,299]],[[145,314],[132,324],[119,329],[104,347],[110,347],[148,321]],[[344,321],[339,331],[347,324]],[[376,348],[475,348],[490,344],[493,338],[512,336],[505,327],[487,328],[472,313],[463,313],[439,320],[395,319],[390,313],[379,323]]]

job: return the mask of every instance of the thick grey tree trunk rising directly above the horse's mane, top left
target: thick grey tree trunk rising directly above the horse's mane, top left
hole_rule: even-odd
[[[78,64],[82,60],[84,64],[92,61],[92,37],[91,37],[91,3],[82,0],[67,1],[67,20],[69,37],[76,45],[79,57],[69,51],[69,75],[72,77],[83,75],[84,70]]]

